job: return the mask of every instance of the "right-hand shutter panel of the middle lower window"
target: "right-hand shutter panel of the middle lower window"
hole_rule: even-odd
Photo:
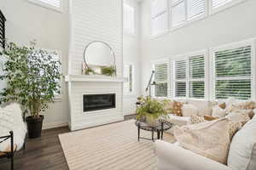
[[[205,57],[189,57],[189,98],[205,98]]]

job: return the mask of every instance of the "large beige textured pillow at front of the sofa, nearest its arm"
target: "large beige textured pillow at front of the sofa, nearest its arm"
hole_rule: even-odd
[[[229,121],[226,118],[201,122],[174,130],[178,144],[213,161],[226,163],[230,146]]]

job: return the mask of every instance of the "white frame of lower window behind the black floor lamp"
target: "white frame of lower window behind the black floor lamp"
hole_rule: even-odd
[[[154,96],[154,98],[168,99],[168,98],[170,98],[170,74],[171,74],[169,59],[168,58],[161,58],[161,59],[151,60],[152,71],[155,71],[155,65],[162,65],[162,64],[167,64],[167,96],[166,97],[157,97],[157,96],[155,96],[154,87],[151,87],[151,94],[152,94],[152,96]],[[155,74],[154,74],[154,77],[152,79],[152,82],[154,81],[154,78],[155,78]]]

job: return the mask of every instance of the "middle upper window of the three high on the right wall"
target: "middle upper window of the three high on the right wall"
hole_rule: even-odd
[[[170,0],[172,28],[205,16],[206,0]]]

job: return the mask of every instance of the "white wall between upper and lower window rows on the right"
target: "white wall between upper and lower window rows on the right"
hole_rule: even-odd
[[[255,0],[247,0],[245,3],[157,38],[150,37],[149,2],[143,1],[141,8],[142,88],[146,87],[151,73],[150,60],[256,37]]]

